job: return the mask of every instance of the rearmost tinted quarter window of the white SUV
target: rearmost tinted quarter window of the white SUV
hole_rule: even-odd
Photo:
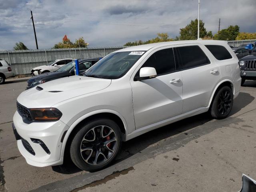
[[[220,45],[206,45],[208,50],[213,54],[213,56],[218,60],[231,59],[232,56],[224,46]]]

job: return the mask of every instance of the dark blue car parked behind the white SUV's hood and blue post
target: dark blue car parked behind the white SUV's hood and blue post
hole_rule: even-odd
[[[83,72],[85,72],[85,70],[90,68],[99,60],[100,58],[89,58],[89,59],[78,60],[80,73],[82,74]],[[54,79],[73,76],[73,75],[75,75],[74,61],[69,62],[68,64],[62,66],[56,72],[44,73],[44,74],[31,77],[27,81],[27,89],[30,89],[32,87],[38,86],[39,84],[42,84]]]

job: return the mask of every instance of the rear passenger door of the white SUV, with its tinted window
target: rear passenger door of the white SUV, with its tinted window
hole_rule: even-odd
[[[182,113],[208,106],[215,86],[220,82],[220,68],[206,56],[205,46],[176,47],[183,80]]]

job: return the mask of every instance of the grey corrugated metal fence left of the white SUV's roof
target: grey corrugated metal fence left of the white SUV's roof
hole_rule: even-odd
[[[56,59],[84,59],[104,57],[116,50],[125,48],[96,47],[96,48],[65,48],[65,49],[39,49],[39,50],[9,50],[0,51],[0,59],[8,61],[12,65],[14,74],[28,74],[34,67],[45,65]]]

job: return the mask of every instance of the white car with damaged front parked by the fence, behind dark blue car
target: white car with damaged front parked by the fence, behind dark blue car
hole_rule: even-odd
[[[44,74],[44,73],[49,73],[49,72],[54,72],[61,68],[62,66],[68,64],[71,62],[73,59],[57,59],[54,61],[49,62],[46,65],[38,66],[35,67],[31,70],[30,75],[35,76],[39,74]]]

